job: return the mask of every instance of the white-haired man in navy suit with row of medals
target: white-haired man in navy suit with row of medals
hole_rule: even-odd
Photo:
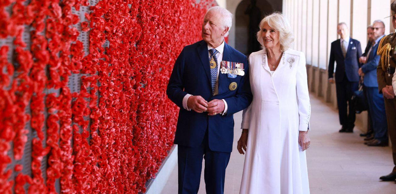
[[[227,9],[210,8],[202,24],[203,40],[184,47],[169,78],[166,93],[180,107],[174,141],[179,194],[198,192],[202,158],[206,193],[224,193],[234,136],[232,115],[252,100],[247,58],[224,41],[231,24]]]

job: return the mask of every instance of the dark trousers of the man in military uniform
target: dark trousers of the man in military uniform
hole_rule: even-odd
[[[393,163],[396,166],[396,98],[385,99],[385,110],[390,142],[392,143]]]

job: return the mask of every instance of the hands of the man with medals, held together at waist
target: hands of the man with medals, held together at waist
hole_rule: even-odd
[[[208,112],[209,116],[224,112],[225,104],[223,100],[214,99],[210,102],[206,101],[202,96],[190,96],[187,100],[187,107],[197,113]]]

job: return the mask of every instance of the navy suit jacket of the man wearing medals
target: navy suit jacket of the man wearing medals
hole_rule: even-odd
[[[245,75],[228,78],[227,74],[219,73],[219,94],[213,96],[207,43],[201,40],[184,47],[181,51],[166,90],[168,98],[180,107],[175,144],[198,147],[208,130],[208,143],[212,151],[232,151],[233,114],[249,106],[252,94],[246,56],[225,43],[223,60],[244,63]],[[237,84],[237,88],[230,90],[229,85],[233,82]],[[183,108],[183,98],[186,94],[202,96],[208,102],[213,99],[224,99],[228,106],[227,114],[208,116],[207,112],[187,111]]]

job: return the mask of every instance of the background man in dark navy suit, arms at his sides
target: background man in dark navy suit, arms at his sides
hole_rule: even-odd
[[[362,56],[362,47],[358,40],[349,37],[349,30],[345,23],[338,24],[337,34],[341,38],[331,43],[328,68],[329,82],[335,83],[338,114],[342,125],[339,132],[353,132],[356,116],[351,97],[353,92],[358,90],[359,58]],[[334,62],[337,62],[335,81],[333,77]]]

